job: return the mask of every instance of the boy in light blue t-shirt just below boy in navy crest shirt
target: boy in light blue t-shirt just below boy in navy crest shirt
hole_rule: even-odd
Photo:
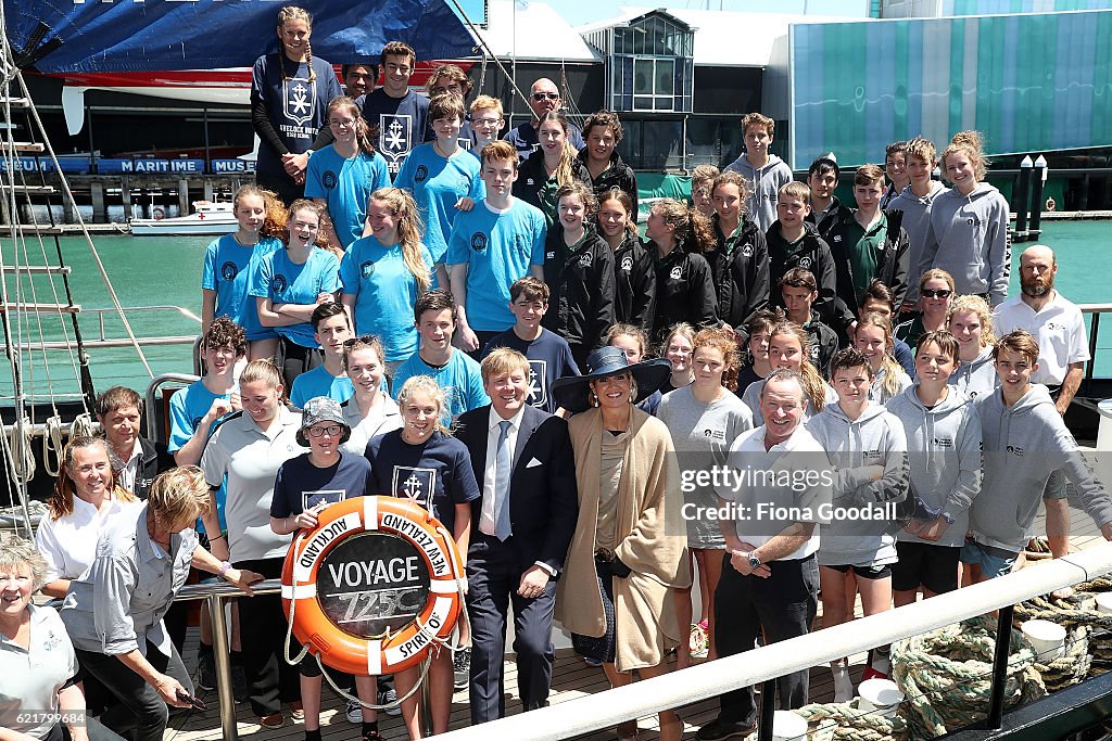
[[[413,193],[425,224],[424,242],[438,264],[448,251],[453,222],[460,212],[475,208],[475,202],[485,194],[479,162],[459,146],[465,116],[461,98],[453,94],[434,98],[428,118],[436,140],[414,148],[394,179],[395,186]],[[446,277],[447,273],[441,276]],[[439,288],[447,288],[445,280],[438,282]]]

